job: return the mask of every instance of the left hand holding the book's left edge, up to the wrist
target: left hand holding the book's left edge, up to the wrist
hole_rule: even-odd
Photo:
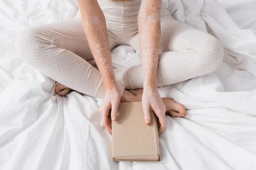
[[[102,115],[102,123],[109,133],[112,133],[111,119],[113,121],[117,118],[117,109],[120,103],[120,94],[118,88],[112,88],[111,91],[107,91],[102,104],[99,107],[99,113]],[[109,118],[109,112],[111,110],[111,118]]]

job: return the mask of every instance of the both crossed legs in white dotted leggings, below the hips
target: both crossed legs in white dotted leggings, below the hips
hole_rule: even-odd
[[[118,45],[130,45],[139,51],[136,29],[127,27],[118,33],[108,29],[108,37],[111,49]],[[66,20],[26,29],[15,45],[23,60],[48,77],[83,94],[104,97],[100,73],[87,62],[93,56],[81,20]],[[215,37],[180,23],[171,15],[161,17],[158,86],[208,74],[220,65],[222,59],[223,47]],[[121,93],[124,89],[143,88],[142,65],[116,71],[115,77]]]

